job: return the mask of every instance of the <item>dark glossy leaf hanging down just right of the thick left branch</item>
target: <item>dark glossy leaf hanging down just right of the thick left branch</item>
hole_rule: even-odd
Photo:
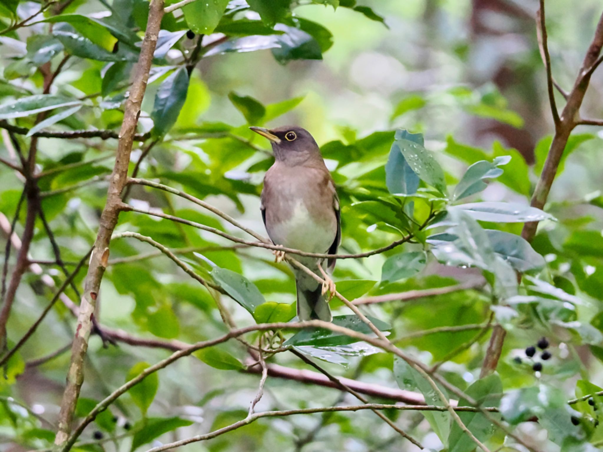
[[[155,103],[151,112],[153,119],[153,136],[162,137],[172,128],[180,115],[180,109],[185,104],[188,92],[189,75],[186,67],[163,80],[155,95]]]

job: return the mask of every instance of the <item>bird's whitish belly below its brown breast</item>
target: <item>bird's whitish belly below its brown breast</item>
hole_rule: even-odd
[[[286,221],[270,225],[270,239],[283,245],[308,253],[326,253],[335,240],[335,215],[333,224],[318,223],[312,218],[303,202],[298,202]]]

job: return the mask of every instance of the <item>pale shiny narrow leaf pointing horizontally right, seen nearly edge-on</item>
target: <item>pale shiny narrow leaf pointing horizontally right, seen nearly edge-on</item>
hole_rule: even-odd
[[[463,210],[478,221],[493,223],[525,223],[526,221],[553,220],[555,217],[536,207],[517,202],[469,202],[453,209]]]

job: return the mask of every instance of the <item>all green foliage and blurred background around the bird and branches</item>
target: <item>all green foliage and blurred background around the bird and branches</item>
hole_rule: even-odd
[[[400,350],[481,406],[500,408],[493,416],[525,444],[481,413],[459,413],[490,450],[523,451],[527,444],[591,451],[603,444],[597,410],[603,397],[567,401],[601,391],[603,136],[600,124],[579,125],[546,213],[529,207],[553,130],[537,8],[511,0],[192,2],[163,17],[128,174],[203,199],[265,235],[259,193],[273,159],[248,126],[307,128],[341,199],[341,253],[408,236],[384,253],[339,260],[338,292]],[[594,0],[571,11],[566,2],[547,2],[552,71],[563,87],[573,85],[600,10]],[[32,204],[28,196],[22,200],[19,152],[28,159],[35,149],[29,169],[43,212],[33,224],[31,265],[7,324],[9,350],[65,281],[58,264],[71,273],[95,240],[147,16],[143,0],[0,5],[4,249],[13,218],[16,236],[23,236],[25,206]],[[595,73],[585,117],[603,114],[602,89]],[[40,132],[64,132],[68,139],[36,137]],[[171,351],[226,333],[229,321],[241,327],[295,315],[291,271],[274,263],[270,251],[132,209],[254,240],[244,231],[152,187],[132,184],[124,200],[131,209],[119,215],[117,234],[151,237],[223,293],[132,235],[112,240],[96,319],[115,345],[90,337],[77,421]],[[523,222],[540,220],[530,245],[519,235]],[[5,253],[7,281],[20,246],[13,240],[10,256]],[[54,441],[75,331],[73,303],[80,299],[75,290],[84,274],[75,275],[66,297],[5,360],[1,450],[43,449]],[[331,303],[336,325],[371,333],[340,300]],[[508,334],[496,373],[480,379],[494,324]],[[266,335],[262,342],[259,333],[245,337],[267,346]],[[380,388],[371,402],[395,403],[385,390],[400,388],[442,406],[416,369],[367,342],[328,330],[271,337],[275,347],[286,339],[283,345],[297,354],[266,356],[272,373],[256,412],[359,403],[324,384],[295,381],[303,380],[301,369],[312,369],[300,356],[332,375]],[[537,346],[541,337],[548,347]],[[532,346],[534,353],[526,350]],[[253,364],[248,348],[233,340],[196,351],[116,400],[74,450],[147,450],[245,419],[260,380]],[[283,366],[289,374],[278,374]],[[384,414],[426,448],[475,448],[450,413]],[[185,448],[417,450],[367,410],[259,419]]]

